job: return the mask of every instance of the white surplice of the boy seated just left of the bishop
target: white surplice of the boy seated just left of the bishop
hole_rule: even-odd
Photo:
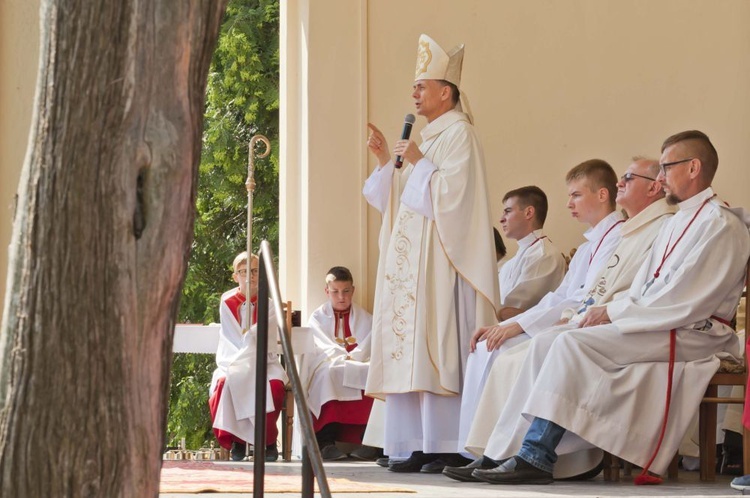
[[[312,312],[308,327],[313,334],[315,350],[300,355],[299,377],[307,390],[307,404],[316,417],[320,407],[331,400],[356,401],[362,399],[364,385],[347,386],[345,377],[352,368],[367,369],[370,360],[370,330],[372,315],[356,304],[349,312],[349,329],[357,347],[347,353],[336,342],[336,315],[330,302]],[[339,324],[343,328],[343,324]]]

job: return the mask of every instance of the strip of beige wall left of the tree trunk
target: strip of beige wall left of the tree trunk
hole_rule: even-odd
[[[38,52],[39,1],[0,0],[0,303],[5,302],[13,205],[31,125]]]

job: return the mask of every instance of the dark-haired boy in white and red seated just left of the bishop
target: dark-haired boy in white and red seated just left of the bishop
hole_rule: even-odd
[[[302,355],[300,362],[300,380],[307,388],[313,429],[324,460],[346,458],[337,441],[362,443],[372,408],[372,398],[363,392],[370,361],[372,315],[352,302],[354,290],[354,279],[347,268],[328,270],[328,301],[313,311],[308,322],[315,351]],[[355,451],[354,457],[366,455]]]

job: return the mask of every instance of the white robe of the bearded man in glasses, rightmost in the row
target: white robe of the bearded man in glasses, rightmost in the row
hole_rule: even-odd
[[[526,420],[541,417],[567,429],[559,455],[594,445],[646,465],[662,427],[669,331],[675,329],[669,421],[651,467],[658,474],[666,471],[718,368],[718,356],[739,355],[736,334],[722,322],[735,313],[750,256],[742,216],[710,188],[681,202],[628,293],[606,305],[611,324],[551,331],[532,341],[513,391],[526,386],[521,409]],[[515,454],[525,427],[509,423],[493,432],[488,456]]]

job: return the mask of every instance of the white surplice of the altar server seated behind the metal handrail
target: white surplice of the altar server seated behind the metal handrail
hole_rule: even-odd
[[[248,302],[245,301],[239,308],[241,324],[225,302],[228,297],[236,293],[237,289],[233,289],[221,296],[219,305],[221,329],[216,351],[217,368],[211,378],[208,393],[211,396],[219,379],[226,377],[213,427],[228,431],[243,441],[253,444],[255,441],[255,365],[258,326],[253,325],[246,333],[242,333],[247,323],[245,309]],[[252,304],[250,306],[252,316]],[[273,310],[273,303],[270,300],[268,307],[269,310]],[[272,312],[268,314],[268,337],[269,350],[274,349],[278,338],[278,323],[276,315]],[[277,379],[286,382],[286,372],[281,367],[278,354],[268,353],[267,372],[269,381]],[[266,382],[266,413],[273,410],[271,387]]]

